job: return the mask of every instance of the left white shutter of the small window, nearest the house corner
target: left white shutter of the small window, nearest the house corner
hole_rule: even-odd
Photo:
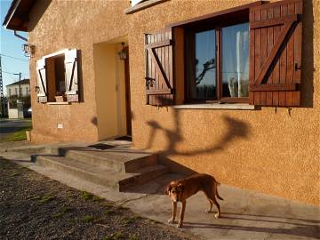
[[[48,101],[47,83],[46,83],[46,70],[45,70],[45,60],[36,61],[36,92],[39,102]]]

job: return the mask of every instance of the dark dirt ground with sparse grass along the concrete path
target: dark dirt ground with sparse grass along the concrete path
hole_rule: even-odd
[[[199,239],[3,158],[0,226],[0,239],[10,240]]]

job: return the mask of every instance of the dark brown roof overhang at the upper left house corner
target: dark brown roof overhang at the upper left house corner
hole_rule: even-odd
[[[36,0],[13,0],[4,18],[4,28],[28,31],[28,15]]]

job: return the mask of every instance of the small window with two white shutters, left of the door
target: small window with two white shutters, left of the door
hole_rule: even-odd
[[[78,101],[76,49],[63,50],[36,61],[39,102]]]

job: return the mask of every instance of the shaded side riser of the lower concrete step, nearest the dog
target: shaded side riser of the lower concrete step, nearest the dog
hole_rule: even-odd
[[[127,188],[142,185],[144,183],[147,183],[149,180],[154,180],[157,177],[160,177],[161,175],[164,175],[165,173],[168,173],[168,168],[164,168],[161,170],[156,170],[152,172],[145,172],[139,176],[132,177],[126,180],[122,180],[119,182],[119,191],[124,191]]]

